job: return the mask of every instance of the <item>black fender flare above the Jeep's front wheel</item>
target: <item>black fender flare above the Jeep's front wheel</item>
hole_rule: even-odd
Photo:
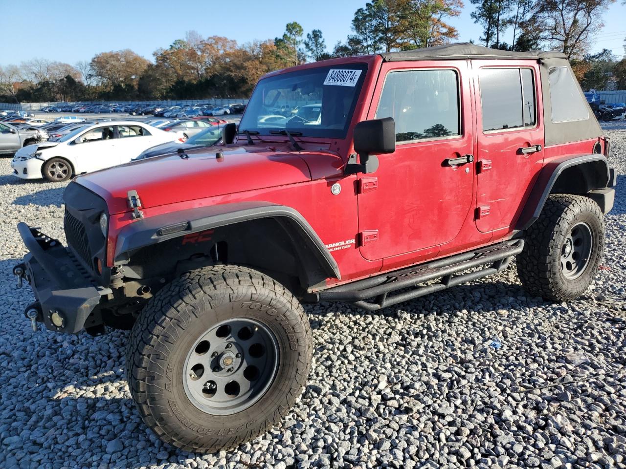
[[[274,218],[284,222],[294,242],[314,254],[319,267],[327,276],[341,278],[337,262],[309,222],[297,210],[262,201],[190,208],[133,221],[118,234],[113,262],[121,265],[130,258],[131,252],[172,238],[261,218]]]

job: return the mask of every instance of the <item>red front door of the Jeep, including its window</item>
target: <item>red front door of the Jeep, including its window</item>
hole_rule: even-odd
[[[364,258],[418,261],[458,235],[475,176],[467,71],[466,61],[382,65],[368,118],[394,118],[396,151],[359,176]]]

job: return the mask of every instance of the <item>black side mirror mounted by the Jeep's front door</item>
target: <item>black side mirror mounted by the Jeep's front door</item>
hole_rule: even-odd
[[[396,123],[393,118],[362,121],[354,126],[354,150],[346,164],[346,174],[374,173],[378,169],[376,154],[396,151]]]

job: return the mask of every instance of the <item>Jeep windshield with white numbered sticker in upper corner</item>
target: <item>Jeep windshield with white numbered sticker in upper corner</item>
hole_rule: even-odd
[[[345,64],[262,79],[239,132],[269,135],[287,129],[303,136],[345,138],[366,70],[367,64]]]

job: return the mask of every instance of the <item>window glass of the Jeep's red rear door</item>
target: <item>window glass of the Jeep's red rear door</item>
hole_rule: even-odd
[[[481,69],[480,101],[485,132],[535,126],[533,71],[528,68]]]

